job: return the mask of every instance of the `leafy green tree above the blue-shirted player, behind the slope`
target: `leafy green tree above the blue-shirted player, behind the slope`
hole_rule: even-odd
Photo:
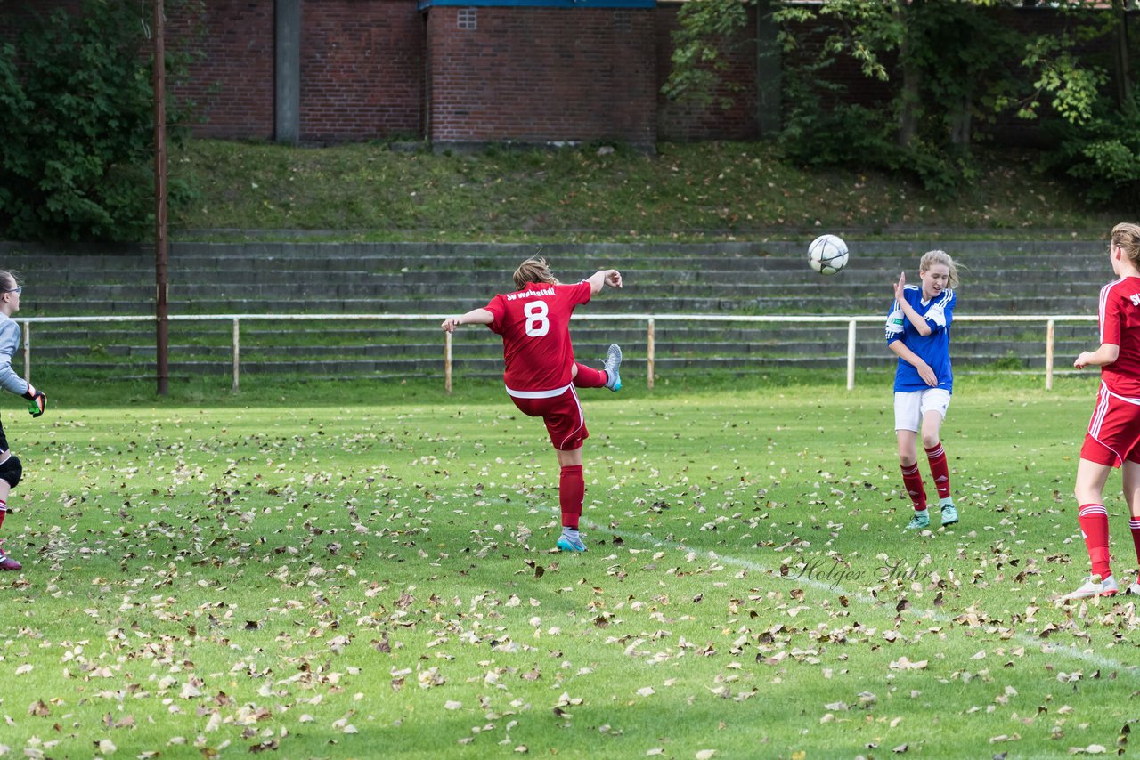
[[[986,13],[990,5],[838,0],[779,10],[785,49],[817,46],[808,64],[789,72],[801,95],[790,98],[789,153],[807,162],[905,170],[935,193],[956,191],[972,174],[978,122],[992,117],[992,104],[1011,97],[1018,82],[1009,66],[1016,38]],[[885,107],[852,104],[831,84],[829,68],[842,56],[886,83]],[[845,136],[838,150],[821,150],[837,129]]]

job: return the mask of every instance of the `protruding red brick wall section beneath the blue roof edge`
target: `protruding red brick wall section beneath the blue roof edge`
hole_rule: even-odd
[[[652,146],[653,17],[652,9],[432,8],[430,138]]]

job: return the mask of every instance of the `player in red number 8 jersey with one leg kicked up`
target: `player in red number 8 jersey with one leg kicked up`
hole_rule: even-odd
[[[562,534],[557,548],[563,551],[586,550],[578,521],[586,496],[581,444],[589,431],[575,389],[621,390],[621,349],[616,343],[603,369],[575,361],[570,343],[575,307],[588,303],[606,285],[621,287],[621,273],[600,269],[580,283],[562,285],[545,259],[528,259],[514,272],[514,293],[496,295],[487,307],[461,317],[448,317],[441,326],[453,333],[459,325],[487,325],[503,336],[506,392],[524,415],[543,418],[559,456]]]

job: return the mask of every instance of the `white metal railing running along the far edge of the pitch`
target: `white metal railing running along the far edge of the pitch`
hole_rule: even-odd
[[[231,321],[234,326],[234,337],[231,343],[233,361],[233,390],[237,392],[241,383],[241,324],[243,319],[259,321],[427,321],[442,322],[454,314],[172,314],[170,321]],[[844,316],[797,316],[797,314],[772,314],[772,316],[733,316],[733,314],[575,314],[573,320],[603,319],[606,321],[634,321],[644,322],[645,333],[645,359],[646,385],[653,387],[656,338],[654,330],[659,321],[687,321],[687,322],[793,322],[793,324],[832,324],[847,326],[847,390],[855,387],[855,328],[860,324],[882,325],[885,317],[881,314],[864,314],[858,317]],[[32,374],[32,325],[44,324],[82,324],[82,322],[154,322],[153,316],[123,316],[123,317],[27,317],[21,319],[24,328],[24,377],[31,379]],[[961,314],[954,317],[955,322],[1037,322],[1045,329],[1045,390],[1053,387],[1053,360],[1056,346],[1057,322],[1073,321],[1096,321],[1096,314],[1016,314],[1016,316],[991,316],[991,314]],[[443,386],[448,393],[451,392],[451,343],[453,334],[443,333]]]

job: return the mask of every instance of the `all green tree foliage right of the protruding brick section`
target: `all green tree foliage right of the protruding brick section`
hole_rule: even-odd
[[[971,145],[1002,113],[1064,121],[1062,153],[1082,166],[1134,166],[1126,137],[1096,140],[1091,130],[1112,114],[1106,88],[1114,77],[1090,48],[1118,34],[1123,0],[1114,13],[1090,0],[1062,0],[1061,28],[1049,35],[1010,28],[994,11],[999,0],[828,0],[780,3],[785,54],[783,131],[780,141],[805,163],[877,165],[917,173],[927,187],[952,194],[972,175]],[[728,10],[726,7],[735,10]],[[666,85],[675,97],[714,87],[726,40],[747,34],[738,0],[686,3],[677,55]],[[722,8],[725,7],[725,8]],[[682,44],[683,43],[683,44]],[[692,55],[693,51],[701,55]],[[1118,51],[1115,81],[1126,82],[1127,50]],[[849,96],[832,73],[853,62],[883,84],[889,99],[876,106]],[[1110,64],[1109,64],[1110,65]],[[684,84],[684,87],[681,87]],[[1131,113],[1131,100],[1115,107]],[[1083,137],[1082,137],[1083,136]],[[1082,140],[1088,145],[1082,145]],[[1073,173],[1073,172],[1070,172]]]

